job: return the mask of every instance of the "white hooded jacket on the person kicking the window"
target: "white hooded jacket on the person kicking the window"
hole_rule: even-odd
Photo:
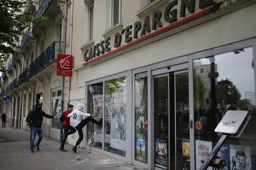
[[[76,110],[68,114],[68,117],[73,117],[74,126],[80,124],[80,122],[84,119],[84,116],[90,116],[89,113],[82,112],[82,109],[84,109],[84,107],[82,107],[82,104],[79,103],[76,105]]]

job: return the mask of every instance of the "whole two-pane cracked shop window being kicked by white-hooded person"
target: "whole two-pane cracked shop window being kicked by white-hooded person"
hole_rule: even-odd
[[[87,145],[121,156],[126,154],[126,76],[88,86],[89,113],[104,118],[104,127],[87,125]],[[104,135],[103,135],[104,131]]]

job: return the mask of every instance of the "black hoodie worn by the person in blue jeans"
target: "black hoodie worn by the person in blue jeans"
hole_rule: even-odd
[[[42,111],[41,104],[36,104],[36,108],[32,111],[31,116],[28,117],[27,122],[31,122],[32,127],[41,127],[43,117],[53,118],[54,116],[44,113],[44,111]]]

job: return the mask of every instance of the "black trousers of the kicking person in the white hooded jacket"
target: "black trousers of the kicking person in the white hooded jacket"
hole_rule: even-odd
[[[84,126],[88,123],[88,122],[93,122],[93,124],[97,124],[99,126],[102,126],[102,118],[100,121],[96,121],[94,118],[92,117],[86,117],[84,118],[75,128],[79,133],[79,139],[77,139],[76,141],[76,146],[79,146],[79,144],[82,142],[82,139],[84,138],[84,135],[82,134],[82,128],[84,128]]]

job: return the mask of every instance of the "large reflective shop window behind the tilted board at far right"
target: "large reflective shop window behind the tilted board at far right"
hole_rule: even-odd
[[[193,70],[204,66],[209,80],[202,80],[199,73],[193,72],[194,122],[201,128],[195,128],[196,169],[201,160],[209,155],[219,137],[214,129],[227,111],[248,111],[255,115],[253,48],[234,50],[193,61]],[[195,65],[196,62],[201,65]],[[228,71],[227,71],[228,70]],[[209,81],[209,82],[208,82]],[[207,101],[209,91],[209,104]],[[251,95],[249,97],[248,92]],[[240,138],[228,138],[218,155],[226,160],[224,169],[256,169],[256,117],[252,116]],[[198,126],[197,126],[198,127]]]

